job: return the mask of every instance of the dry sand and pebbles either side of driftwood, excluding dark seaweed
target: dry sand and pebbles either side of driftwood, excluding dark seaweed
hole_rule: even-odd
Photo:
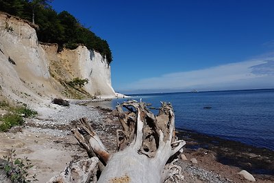
[[[79,147],[71,133],[75,121],[81,117],[88,118],[108,150],[114,152],[116,130],[120,128],[120,123],[112,115],[112,110],[72,102],[68,107],[51,104],[51,108],[41,108],[38,117],[26,119],[25,126],[20,130],[1,133],[0,156],[14,147],[18,156],[27,156],[32,160],[32,171],[38,175],[38,182],[47,182],[62,171],[68,162],[87,158],[86,152]],[[194,136],[191,132],[179,131],[177,136],[187,142],[183,152],[184,160],[178,156],[177,161],[182,167],[184,182],[250,182],[238,174],[241,167],[219,162],[216,156],[220,149],[205,148],[199,134]],[[193,145],[197,148],[193,148]],[[256,182],[274,181],[273,175],[253,176]]]

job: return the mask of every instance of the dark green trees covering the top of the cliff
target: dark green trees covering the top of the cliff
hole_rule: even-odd
[[[58,43],[59,50],[77,48],[78,44],[88,49],[99,51],[108,63],[112,61],[112,52],[106,40],[96,36],[84,27],[69,12],[59,14],[49,5],[49,0],[0,0],[0,11],[7,12],[21,19],[36,23],[40,42]]]

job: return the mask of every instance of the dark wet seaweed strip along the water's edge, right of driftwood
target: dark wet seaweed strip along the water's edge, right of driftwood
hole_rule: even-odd
[[[185,154],[211,154],[220,164],[233,169],[244,169],[257,179],[274,182],[274,151],[271,149],[254,147],[192,130],[177,131],[177,136],[186,141]],[[212,166],[208,168],[214,169]]]

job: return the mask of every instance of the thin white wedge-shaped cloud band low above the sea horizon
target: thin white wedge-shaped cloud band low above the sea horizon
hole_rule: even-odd
[[[224,64],[196,71],[169,73],[133,82],[127,92],[166,92],[274,88],[274,59]]]

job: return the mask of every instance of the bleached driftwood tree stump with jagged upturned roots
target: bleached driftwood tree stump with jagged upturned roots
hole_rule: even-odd
[[[181,167],[174,162],[186,143],[178,141],[175,135],[175,117],[171,104],[162,103],[157,116],[147,110],[145,103],[137,101],[123,102],[116,110],[123,130],[117,130],[118,151],[114,154],[108,153],[86,119],[80,119],[81,125],[73,130],[89,156],[97,156],[99,159],[98,182],[153,183],[182,180]]]

